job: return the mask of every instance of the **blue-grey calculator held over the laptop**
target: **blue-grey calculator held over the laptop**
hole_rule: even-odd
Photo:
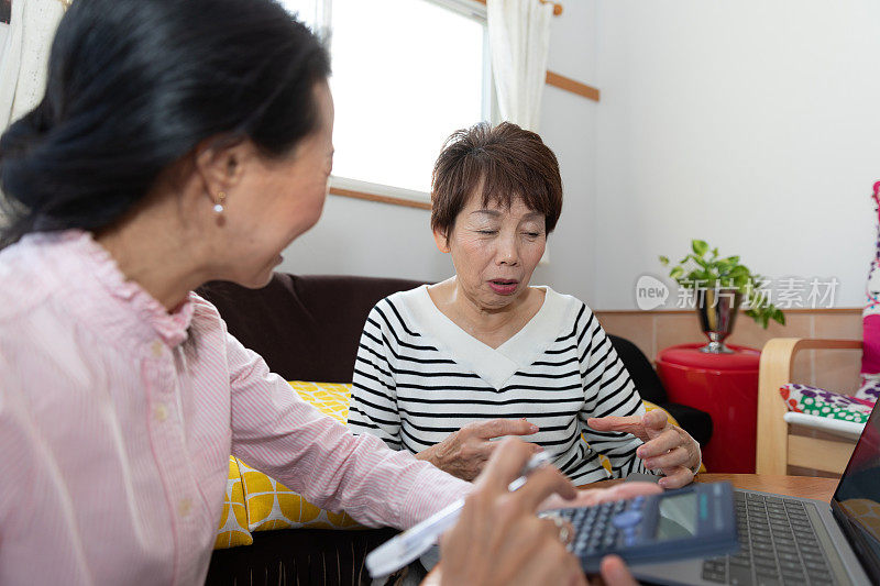
[[[614,553],[627,564],[672,562],[735,553],[734,491],[729,483],[692,484],[660,495],[554,509],[574,527],[570,548],[586,572]]]

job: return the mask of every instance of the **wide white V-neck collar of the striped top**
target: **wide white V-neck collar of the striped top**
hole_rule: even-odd
[[[544,289],[541,308],[497,349],[472,336],[440,311],[428,294],[427,285],[398,295],[422,335],[433,339],[455,362],[499,390],[517,371],[526,368],[543,354],[559,338],[563,324],[571,321],[569,313],[574,307],[569,302],[571,297],[560,295],[550,287],[540,288]]]

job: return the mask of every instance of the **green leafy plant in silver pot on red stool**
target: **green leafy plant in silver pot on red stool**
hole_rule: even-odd
[[[785,316],[770,302],[765,280],[739,262],[739,256],[721,256],[702,240],[691,241],[691,252],[671,267],[669,276],[679,287],[692,289],[703,332],[710,343],[703,352],[727,353],[724,339],[730,334],[741,302],[746,316],[767,329],[770,320],[784,325]],[[669,266],[669,258],[660,256]]]

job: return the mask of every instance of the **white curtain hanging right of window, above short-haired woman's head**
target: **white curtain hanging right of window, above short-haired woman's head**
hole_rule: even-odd
[[[502,120],[537,132],[553,5],[539,0],[487,0],[486,12]]]

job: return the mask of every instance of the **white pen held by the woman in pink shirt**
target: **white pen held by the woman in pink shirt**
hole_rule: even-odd
[[[519,477],[507,485],[507,489],[516,490],[526,484],[529,474],[549,463],[550,454],[538,452],[522,467]],[[374,578],[387,576],[427,552],[447,529],[455,524],[463,506],[464,500],[459,499],[373,550],[366,556],[370,575]]]

